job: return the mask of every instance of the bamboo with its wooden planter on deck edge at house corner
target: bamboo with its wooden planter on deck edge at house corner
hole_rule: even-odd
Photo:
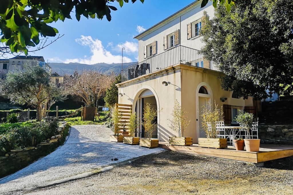
[[[172,112],[172,120],[169,120],[168,126],[171,130],[178,132],[178,137],[169,137],[169,143],[171,145],[179,145],[179,146],[190,146],[192,145],[192,137],[184,137],[184,131],[190,124],[190,120],[187,120],[188,112],[184,110],[179,104],[179,102],[175,101],[173,112]]]

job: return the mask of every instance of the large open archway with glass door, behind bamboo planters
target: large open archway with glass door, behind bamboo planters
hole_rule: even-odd
[[[137,112],[137,120],[139,122],[139,128],[137,130],[137,136],[138,137],[145,137],[144,133],[144,127],[142,125],[143,123],[143,115],[144,115],[144,108],[149,103],[152,108],[154,108],[156,111],[158,111],[157,101],[156,97],[154,96],[153,92],[149,89],[144,89],[138,96],[138,99],[136,101],[135,105],[135,112]],[[158,124],[158,114],[154,121],[156,124]],[[158,129],[156,129],[153,132],[152,138],[158,138]]]

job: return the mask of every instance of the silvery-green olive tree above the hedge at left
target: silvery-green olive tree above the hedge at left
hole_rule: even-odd
[[[65,99],[64,90],[50,82],[50,73],[40,67],[37,61],[26,62],[24,70],[8,72],[1,80],[1,93],[11,103],[28,104],[37,110],[37,120],[47,115],[48,109],[56,101]]]

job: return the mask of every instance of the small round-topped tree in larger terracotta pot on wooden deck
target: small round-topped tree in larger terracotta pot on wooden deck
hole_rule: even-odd
[[[250,139],[250,130],[252,128],[252,122],[255,120],[252,113],[244,113],[240,111],[236,116],[236,122],[241,124],[241,127],[246,131],[246,139],[244,139],[245,148],[248,152],[258,152],[260,146],[260,139]]]

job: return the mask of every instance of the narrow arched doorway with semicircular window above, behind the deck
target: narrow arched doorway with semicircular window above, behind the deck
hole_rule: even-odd
[[[200,113],[205,107],[212,106],[212,90],[205,82],[200,83],[196,89],[196,118],[197,118],[197,137],[206,137],[206,133],[202,128],[202,119]]]

